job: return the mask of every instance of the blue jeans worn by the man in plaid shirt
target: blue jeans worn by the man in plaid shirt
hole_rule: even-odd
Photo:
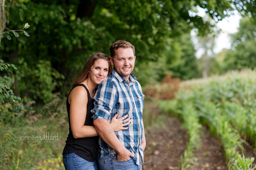
[[[116,155],[103,156],[98,160],[100,170],[142,170],[141,160],[140,165],[136,165],[130,157],[129,160],[119,161]]]

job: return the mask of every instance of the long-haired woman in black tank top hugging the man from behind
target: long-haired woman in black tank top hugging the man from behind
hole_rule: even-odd
[[[63,150],[63,164],[66,170],[98,170],[98,133],[95,130],[91,110],[93,109],[93,96],[97,86],[112,72],[112,66],[107,55],[93,54],[86,62],[83,70],[74,81],[73,88],[67,97],[67,111],[69,134]],[[130,124],[128,118],[123,124],[124,116],[115,117],[110,124],[114,131]]]

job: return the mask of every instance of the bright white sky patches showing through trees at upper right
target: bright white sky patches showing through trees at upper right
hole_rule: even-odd
[[[197,8],[198,13],[197,15],[203,17],[205,15],[205,11],[202,8]],[[237,12],[234,11],[234,15],[231,15],[230,17],[225,17],[223,20],[219,21],[216,26],[220,28],[222,31],[218,35],[218,37],[215,39],[215,47],[214,47],[214,53],[219,53],[223,48],[230,49],[231,46],[231,41],[230,37],[228,34],[235,33],[238,30],[239,27],[239,20],[241,19],[241,15]],[[195,38],[196,33],[191,32],[192,40],[196,46],[197,44],[197,39]],[[196,52],[196,58],[200,58],[201,55],[203,54],[202,49],[197,49]]]

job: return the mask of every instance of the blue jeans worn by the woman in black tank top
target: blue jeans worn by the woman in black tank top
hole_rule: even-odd
[[[99,170],[98,162],[89,162],[76,153],[63,155],[63,164],[66,170]]]

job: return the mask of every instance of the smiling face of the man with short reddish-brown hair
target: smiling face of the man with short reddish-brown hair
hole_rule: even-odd
[[[134,68],[136,56],[133,55],[132,48],[118,48],[114,59],[110,57],[111,64],[117,73],[121,74],[126,80]]]

